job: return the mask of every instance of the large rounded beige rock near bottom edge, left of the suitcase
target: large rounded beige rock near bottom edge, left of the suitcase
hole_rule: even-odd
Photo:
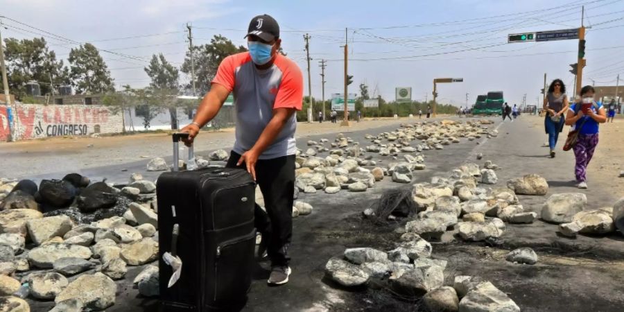
[[[85,311],[101,311],[115,303],[117,286],[115,282],[100,272],[82,275],[72,281],[59,293],[55,302],[78,299],[83,302]]]

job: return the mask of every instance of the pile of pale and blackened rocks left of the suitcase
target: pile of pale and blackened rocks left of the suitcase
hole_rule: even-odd
[[[122,189],[76,174],[39,187],[3,180],[0,187],[12,189],[0,201],[0,296],[24,306],[11,311],[28,311],[18,290],[21,297],[54,300],[53,311],[114,304],[115,280],[158,255],[156,187],[141,178],[133,174]],[[135,279],[142,295],[158,295],[154,268]]]

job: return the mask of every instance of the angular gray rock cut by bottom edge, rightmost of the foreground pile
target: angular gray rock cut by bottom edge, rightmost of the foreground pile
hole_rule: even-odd
[[[461,312],[520,312],[519,306],[489,281],[472,288],[460,301]]]

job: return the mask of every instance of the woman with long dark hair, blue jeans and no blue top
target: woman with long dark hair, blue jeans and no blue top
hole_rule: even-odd
[[[548,146],[551,148],[551,158],[555,157],[555,146],[559,139],[559,132],[564,126],[563,114],[568,110],[569,103],[566,96],[566,85],[561,79],[555,79],[548,87],[548,94],[544,98],[544,129],[548,134]]]

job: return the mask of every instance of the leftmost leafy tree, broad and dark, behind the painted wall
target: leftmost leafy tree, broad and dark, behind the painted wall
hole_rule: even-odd
[[[26,96],[26,83],[30,80],[40,83],[41,94],[52,93],[54,84],[69,83],[69,69],[63,67],[62,60],[56,60],[44,38],[6,38],[4,42],[9,87],[18,98]]]

